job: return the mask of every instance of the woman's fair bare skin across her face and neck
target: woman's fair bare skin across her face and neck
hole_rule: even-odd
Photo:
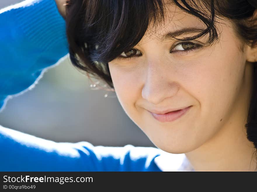
[[[244,124],[256,48],[244,44],[229,21],[219,20],[219,42],[205,46],[205,36],[191,41],[202,45],[200,49],[185,52],[195,46],[186,48],[174,39],[162,41],[162,35],[205,26],[174,5],[167,10],[164,25],[149,25],[133,48],[136,55],[109,63],[119,102],[158,148],[185,153],[196,171],[254,171],[254,146],[246,138]],[[173,122],[159,122],[150,113],[191,105]]]

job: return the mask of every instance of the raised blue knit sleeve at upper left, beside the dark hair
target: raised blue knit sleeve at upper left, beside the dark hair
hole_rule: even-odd
[[[26,0],[0,10],[0,109],[68,53],[65,20],[54,0]]]

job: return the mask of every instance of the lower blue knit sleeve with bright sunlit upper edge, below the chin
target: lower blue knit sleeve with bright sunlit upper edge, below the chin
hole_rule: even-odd
[[[0,126],[0,171],[161,171],[153,147],[56,143]]]

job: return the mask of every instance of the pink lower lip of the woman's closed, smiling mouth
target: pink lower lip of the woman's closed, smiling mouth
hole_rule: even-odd
[[[150,112],[150,113],[156,120],[158,120],[160,122],[172,122],[172,121],[178,119],[179,117],[181,117],[182,115],[184,115],[191,107],[192,107],[192,105],[187,108],[184,108],[184,109],[181,109],[178,111],[171,111],[171,112],[168,112],[165,114],[156,114],[156,113],[152,113],[152,112]]]

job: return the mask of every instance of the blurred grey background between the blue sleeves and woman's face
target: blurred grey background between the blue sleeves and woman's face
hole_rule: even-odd
[[[18,2],[1,0],[0,8]],[[92,90],[90,84],[66,57],[45,72],[34,89],[7,102],[0,124],[58,142],[154,146],[126,115],[114,92]]]

